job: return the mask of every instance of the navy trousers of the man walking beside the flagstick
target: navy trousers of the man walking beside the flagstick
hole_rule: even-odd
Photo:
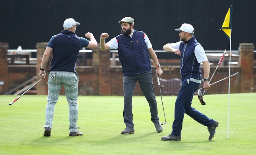
[[[187,79],[182,82],[181,90],[179,91],[175,102],[175,113],[172,130],[173,135],[181,135],[182,122],[185,113],[196,122],[204,126],[210,126],[213,124],[214,120],[209,119],[207,116],[200,113],[198,110],[191,106],[193,94],[197,90],[199,85],[199,83],[193,81],[189,81],[188,83]]]

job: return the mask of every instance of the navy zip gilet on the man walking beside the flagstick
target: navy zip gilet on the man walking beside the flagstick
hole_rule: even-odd
[[[201,66],[197,62],[194,49],[195,46],[200,45],[194,38],[194,36],[180,44],[181,51],[181,82],[192,77],[197,80],[201,80]]]

